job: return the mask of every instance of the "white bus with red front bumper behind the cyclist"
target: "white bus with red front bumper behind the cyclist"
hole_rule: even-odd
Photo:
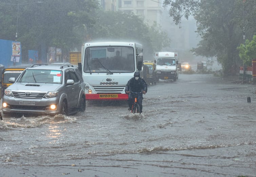
[[[127,100],[125,85],[143,65],[142,45],[94,42],[82,47],[86,100]]]

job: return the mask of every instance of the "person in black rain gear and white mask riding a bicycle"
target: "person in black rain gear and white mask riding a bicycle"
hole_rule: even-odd
[[[136,71],[134,73],[134,77],[131,78],[125,86],[125,93],[129,94],[128,95],[128,105],[129,105],[128,110],[132,110],[133,101],[136,96],[136,94],[131,93],[131,92],[141,92],[141,93],[139,93],[140,96],[137,99],[137,101],[140,106],[140,112],[142,112],[142,99],[143,99],[142,93],[146,94],[147,84],[143,79],[140,78],[139,71]]]

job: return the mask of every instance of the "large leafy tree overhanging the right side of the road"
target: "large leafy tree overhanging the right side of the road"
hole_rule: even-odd
[[[202,41],[192,50],[195,54],[216,56],[224,74],[238,71],[241,60],[236,48],[243,43],[243,35],[252,38],[255,32],[255,1],[165,0],[164,5],[171,5],[169,13],[176,24],[182,16],[187,19],[193,16],[197,20]]]

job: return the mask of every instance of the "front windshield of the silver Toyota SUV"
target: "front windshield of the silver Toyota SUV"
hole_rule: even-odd
[[[62,71],[49,69],[27,69],[17,82],[62,84]]]

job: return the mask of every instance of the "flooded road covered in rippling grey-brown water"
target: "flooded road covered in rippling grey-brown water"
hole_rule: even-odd
[[[180,74],[73,116],[3,117],[0,176],[256,176],[255,85]],[[251,103],[247,103],[247,97]]]

